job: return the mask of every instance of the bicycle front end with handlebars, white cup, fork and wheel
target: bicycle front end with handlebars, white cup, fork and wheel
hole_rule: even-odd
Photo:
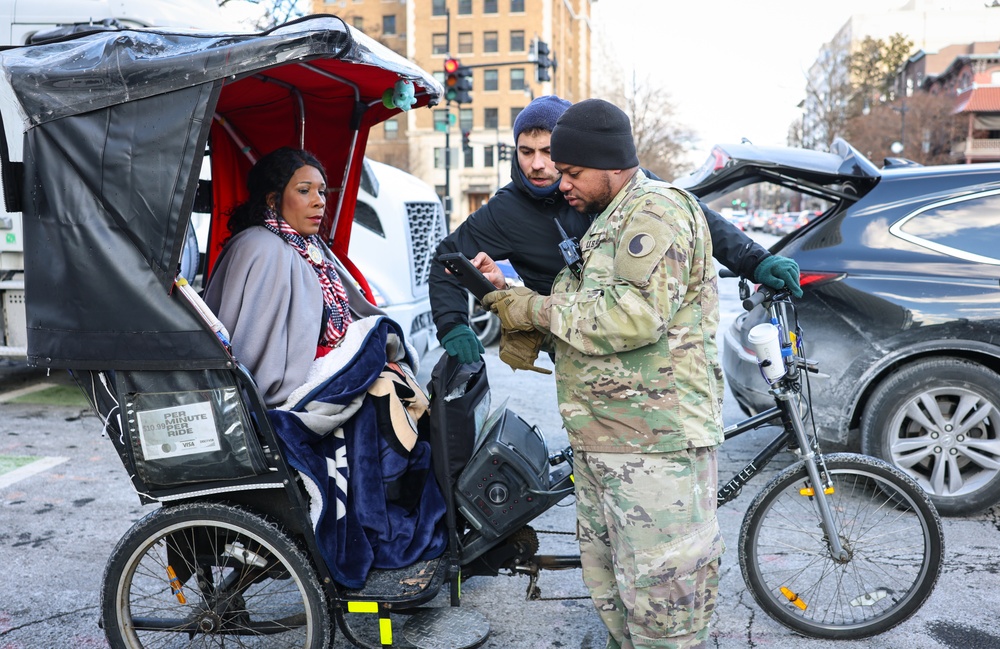
[[[727,427],[725,439],[772,423],[781,430],[720,480],[719,506],[783,450],[800,458],[747,508],[738,542],[743,579],[764,612],[793,631],[828,639],[883,633],[934,589],[944,553],[940,516],[920,486],[887,462],[821,452],[815,426],[809,431],[800,413],[803,379],[808,385],[818,369],[804,357],[789,294],[762,287],[751,296],[745,280],[740,292],[746,310],[766,309],[777,328],[780,351],[758,350],[775,405]]]

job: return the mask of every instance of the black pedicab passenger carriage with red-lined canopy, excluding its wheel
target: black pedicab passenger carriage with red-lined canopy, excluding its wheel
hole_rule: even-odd
[[[316,560],[308,503],[252,377],[175,281],[192,208],[206,201],[206,152],[211,268],[254,161],[300,146],[331,184],[321,233],[370,297],[348,250],[369,132],[400,114],[383,103],[397,82],[413,84],[413,108],[437,104],[440,84],[334,16],[260,34],[99,31],[10,49],[0,68],[4,199],[24,213],[29,364],[73,373],[143,503],[224,500],[301,537],[341,628],[353,603],[387,618],[393,607],[432,598],[447,561],[414,566],[403,592],[398,579],[368,592],[338,589]],[[15,137],[23,137],[23,161],[9,155]],[[218,464],[143,461],[137,404],[162,405],[168,394],[194,395],[171,402],[180,407],[211,401],[226,430],[239,431],[223,436],[217,454],[229,474]],[[391,627],[380,624],[380,634],[382,645],[392,643]]]

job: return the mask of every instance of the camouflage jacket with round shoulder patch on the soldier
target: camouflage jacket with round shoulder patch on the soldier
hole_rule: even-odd
[[[638,171],[580,241],[532,319],[556,345],[574,448],[665,453],[722,443],[719,296],[695,199]]]

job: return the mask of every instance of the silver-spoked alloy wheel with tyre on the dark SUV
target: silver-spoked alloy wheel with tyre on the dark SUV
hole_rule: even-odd
[[[861,420],[861,450],[916,480],[938,511],[958,516],[1000,500],[1000,376],[958,358],[893,373]]]

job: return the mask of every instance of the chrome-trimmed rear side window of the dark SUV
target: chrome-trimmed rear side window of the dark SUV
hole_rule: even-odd
[[[1000,193],[932,205],[893,223],[889,232],[959,259],[1000,263]]]

